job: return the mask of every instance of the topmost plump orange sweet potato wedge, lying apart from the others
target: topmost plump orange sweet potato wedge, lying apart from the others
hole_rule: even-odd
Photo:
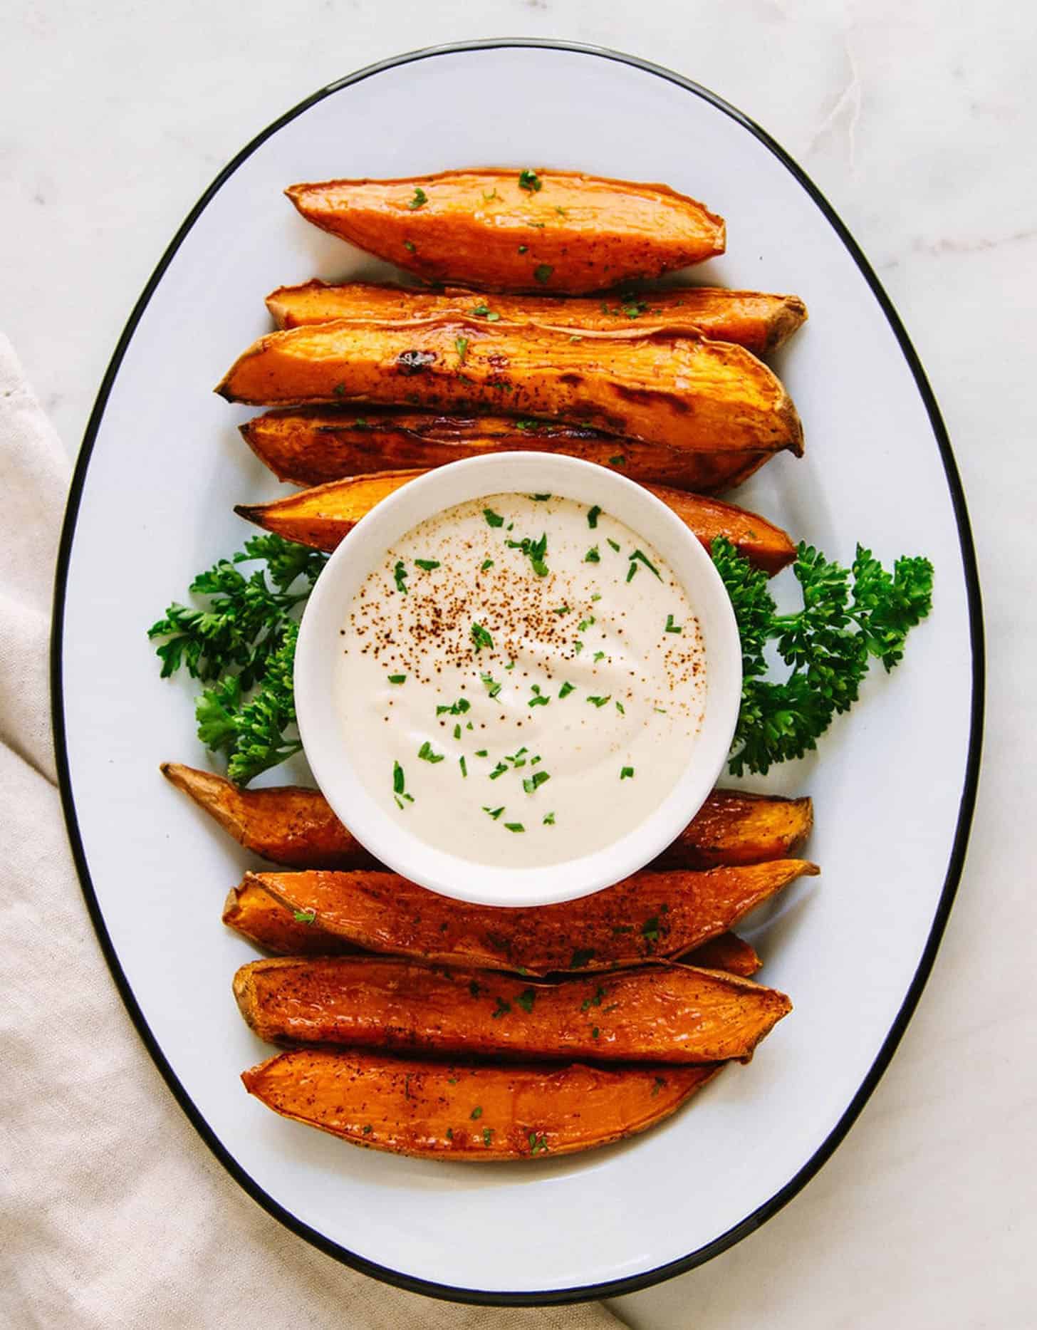
[[[597,291],[723,254],[723,218],[667,185],[449,170],[285,190],[322,230],[431,282]]]

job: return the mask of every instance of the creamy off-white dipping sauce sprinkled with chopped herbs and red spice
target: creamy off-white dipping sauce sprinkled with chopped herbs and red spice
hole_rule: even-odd
[[[702,725],[683,587],[643,536],[570,499],[491,495],[413,527],[362,583],[339,642],[338,712],[364,785],[476,863],[553,864],[618,841],[670,793]]]

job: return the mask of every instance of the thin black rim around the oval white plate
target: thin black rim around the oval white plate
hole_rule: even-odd
[[[428,60],[435,56],[456,55],[460,52],[477,52],[477,51],[496,51],[501,48],[540,48],[545,51],[569,51],[584,56],[596,56],[602,60],[614,60],[620,64],[633,65],[635,69],[643,69],[646,73],[654,74],[658,78],[665,78],[667,82],[677,84],[677,86],[683,88],[686,92],[693,93],[695,97],[701,97],[703,101],[710,102],[717,110],[723,112],[725,116],[730,116],[735,120],[743,129],[758,138],[771,153],[782,162],[782,165],[799,181],[803,189],[810,194],[816,206],[822,210],[824,217],[828,219],[830,225],[838,234],[839,239],[843,242],[854,262],[858,265],[862,277],[871,287],[875,299],[885,315],[889,327],[896,336],[904,359],[915,376],[915,383],[917,386],[919,394],[925,410],[929,416],[929,424],[932,426],[933,436],[936,444],[940,450],[940,456],[944,464],[944,472],[947,475],[947,485],[951,492],[951,503],[955,511],[955,520],[957,523],[959,541],[961,545],[961,563],[965,576],[965,588],[968,593],[969,605],[969,638],[972,644],[972,714],[971,714],[971,730],[969,730],[969,747],[968,758],[965,763],[965,779],[961,790],[961,802],[959,805],[957,825],[955,827],[955,838],[951,846],[951,857],[947,867],[947,876],[944,879],[943,892],[940,895],[940,902],[933,916],[932,928],[929,936],[925,942],[925,948],[921,955],[915,976],[911,980],[904,1001],[900,1011],[893,1020],[889,1033],[885,1036],[881,1049],[877,1057],[872,1063],[867,1076],[860,1084],[856,1095],[847,1105],[843,1116],[836,1123],[832,1132],[826,1137],[820,1146],[815,1150],[812,1157],[799,1169],[799,1172],[791,1177],[784,1186],[780,1188],[768,1201],[758,1206],[751,1214],[747,1214],[739,1224],[722,1233],[718,1238],[707,1242],[705,1246],[695,1252],[690,1252],[687,1256],[681,1257],[677,1261],[669,1261],[665,1265],[655,1266],[653,1270],[645,1270],[641,1274],[628,1275],[622,1279],[612,1279],[604,1283],[584,1285],[572,1289],[549,1289],[541,1293],[499,1293],[493,1290],[481,1289],[457,1289],[445,1283],[432,1283],[427,1279],[413,1278],[412,1275],[404,1274],[399,1270],[388,1269],[383,1265],[376,1265],[372,1261],[367,1261],[363,1257],[356,1256],[352,1252],[347,1252],[344,1248],[339,1246],[336,1242],[330,1241],[322,1233],[311,1229],[308,1225],[303,1224],[294,1214],[279,1205],[271,1196],[266,1192],[241,1168],[241,1165],[234,1160],[226,1146],[218,1140],[213,1129],[209,1127],[206,1120],[202,1117],[198,1108],[191,1101],[183,1085],[177,1079],[173,1068],[166,1061],[162,1049],[148,1027],[148,1021],[144,1017],[144,1012],[137,1004],[137,999],[130,990],[122,967],[116,955],[112,939],[109,938],[108,928],[105,927],[105,920],[101,914],[101,907],[97,902],[97,896],[93,890],[93,883],[90,880],[90,870],[86,863],[86,854],[82,846],[82,837],[80,835],[78,822],[76,818],[76,802],[72,793],[72,781],[69,775],[69,758],[68,758],[68,745],[65,738],[65,713],[64,713],[64,696],[62,696],[62,629],[64,629],[64,610],[65,610],[65,591],[68,584],[68,571],[72,556],[72,543],[76,532],[76,519],[78,515],[80,500],[82,497],[82,488],[86,480],[86,468],[90,463],[90,455],[93,452],[94,443],[97,442],[97,435],[101,428],[101,420],[104,418],[105,406],[108,403],[108,396],[112,391],[112,386],[118,374],[120,366],[122,363],[122,356],[133,338],[145,309],[148,307],[152,295],[158,286],[162,275],[165,274],[173,255],[179,249],[187,231],[194,226],[195,221],[201,213],[207,207],[209,202],[217,194],[219,189],[226,184],[226,181],[234,174],[234,172],[246,161],[261,144],[263,144],[271,134],[275,134],[283,125],[295,120],[303,112],[308,110],[310,106],[324,97],[330,97],[332,93],[339,92],[342,88],[348,88],[352,84],[362,82],[364,78],[370,78],[372,74],[382,73],[386,69],[392,69],[399,65],[411,64],[416,60]],[[968,511],[965,508],[965,496],[961,489],[961,480],[957,472],[957,464],[955,463],[955,456],[951,450],[951,440],[947,435],[947,428],[944,427],[943,419],[940,418],[940,408],[936,404],[936,398],[933,396],[932,388],[929,387],[928,379],[925,378],[925,371],[915,352],[913,346],[900,322],[896,310],[889,302],[888,295],[883,290],[877,277],[871,269],[871,265],[864,258],[864,254],[859,249],[856,241],[847,231],[843,222],[832,210],[828,201],[820,193],[820,190],[814,185],[814,182],[806,176],[806,173],[796,165],[795,161],[767,134],[759,125],[754,124],[747,116],[737,110],[722,97],[715,93],[709,92],[699,84],[693,82],[690,78],[683,78],[681,74],[673,73],[669,69],[663,69],[661,65],[654,65],[647,60],[641,60],[635,56],[622,55],[618,51],[609,51],[604,47],[590,47],[581,43],[573,41],[541,41],[536,39],[489,39],[484,41],[467,41],[441,47],[428,47],[423,51],[412,51],[407,55],[394,56],[390,60],[382,60],[378,64],[368,65],[364,69],[359,69],[356,73],[348,74],[344,78],[330,84],[327,88],[322,88],[315,92],[306,101],[299,102],[298,106],[288,110],[279,120],[275,120],[267,129],[243,148],[238,156],[229,162],[223,170],[217,176],[209,189],[202,194],[198,202],[194,205],[183,225],[179,227],[177,234],[173,237],[172,243],[162,255],[158,266],[152,274],[148,285],[141,293],[129,321],[122,330],[122,335],[118,339],[112,360],[105,371],[105,376],[101,380],[101,387],[97,392],[97,400],[94,402],[93,411],[90,412],[90,419],[86,426],[86,432],[82,439],[82,447],[76,463],[76,471],[72,477],[72,489],[69,493],[68,508],[65,511],[65,521],[61,531],[61,543],[58,547],[57,557],[57,573],[55,583],[55,608],[53,608],[53,630],[51,637],[51,700],[52,700],[52,720],[55,732],[55,747],[57,753],[57,771],[58,782],[61,787],[61,803],[65,813],[65,822],[68,825],[69,841],[72,845],[72,854],[76,862],[76,870],[80,876],[80,884],[82,886],[82,894],[86,898],[86,907],[90,912],[90,919],[93,920],[93,927],[97,932],[97,940],[104,952],[105,960],[108,962],[108,968],[112,971],[112,978],[114,979],[116,987],[120,991],[122,1001],[137,1027],[137,1032],[152,1055],[156,1065],[165,1077],[166,1084],[173,1092],[177,1103],[183,1109],[183,1112],[190,1119],[198,1134],[202,1137],[209,1149],[215,1154],[223,1168],[235,1178],[237,1182],[257,1201],[263,1206],[274,1218],[279,1220],[286,1228],[291,1229],[299,1237],[311,1242],[319,1250],[327,1253],[327,1256],[334,1257],[336,1261],[342,1261],[344,1265],[352,1266],[352,1269],[362,1271],[363,1274],[372,1275],[376,1279],[382,1279],[386,1283],[395,1285],[400,1289],[407,1289],[412,1293],[423,1293],[433,1298],[445,1298],[455,1302],[469,1302],[481,1303],[489,1306],[512,1305],[512,1306],[545,1306],[552,1303],[564,1302],[582,1302],[592,1298],[613,1298],[625,1293],[635,1293],[638,1289],[646,1289],[653,1283],[659,1283],[663,1279],[669,1279],[673,1275],[683,1274],[687,1270],[694,1269],[697,1265],[702,1265],[705,1261],[710,1261],[713,1257],[719,1256],[727,1248],[734,1246],[742,1238],[747,1237],[762,1224],[766,1224],[771,1216],[776,1214],[791,1198],[802,1190],[803,1186],[814,1177],[818,1169],[828,1160],[835,1148],[840,1144],[843,1137],[847,1134],[850,1128],[854,1125],[858,1115],[867,1103],[883,1072],[889,1065],[889,1059],[893,1056],[897,1044],[907,1028],[908,1021],[917,1005],[921,991],[925,987],[925,982],[929,978],[933,960],[936,958],[936,951],[940,946],[940,939],[943,938],[944,928],[947,926],[948,916],[951,914],[951,906],[957,891],[959,880],[961,878],[961,868],[965,861],[965,849],[968,845],[969,826],[972,823],[972,813],[976,803],[976,787],[979,783],[980,773],[980,751],[982,747],[982,708],[984,708],[984,634],[982,634],[982,608],[980,600],[980,581],[979,572],[976,567],[976,551],[972,541],[972,531],[969,527]]]

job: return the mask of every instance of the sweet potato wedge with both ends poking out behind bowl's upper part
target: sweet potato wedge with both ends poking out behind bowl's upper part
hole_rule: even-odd
[[[424,471],[379,471],[351,476],[273,503],[238,504],[234,512],[287,540],[331,551],[376,503],[423,475]],[[726,536],[750,563],[768,573],[780,572],[795,559],[796,547],[788,535],[759,513],[666,485],[645,488],[671,508],[706,549],[718,536]]]

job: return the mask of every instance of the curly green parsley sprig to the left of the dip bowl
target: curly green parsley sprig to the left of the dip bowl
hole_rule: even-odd
[[[237,568],[261,560],[266,569],[247,577]],[[209,597],[203,609],[174,602],[148,630],[149,638],[164,638],[156,648],[162,678],[183,666],[191,678],[215,681],[195,701],[198,738],[226,754],[238,785],[302,747],[294,732],[294,612],[326,561],[327,555],[281,536],[253,536],[233,559],[194,579],[190,591]]]

